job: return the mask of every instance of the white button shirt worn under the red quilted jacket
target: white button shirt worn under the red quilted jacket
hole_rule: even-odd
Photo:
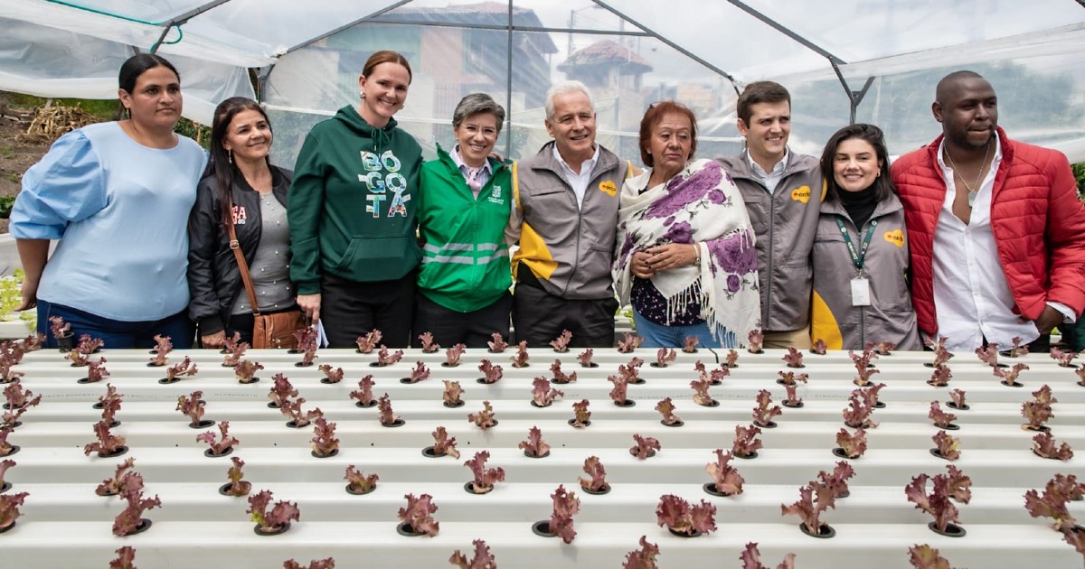
[[[953,212],[957,195],[954,172],[943,159],[945,141],[939,147],[939,166],[946,181],[946,196],[934,230],[934,307],[939,335],[948,338],[946,349],[972,351],[983,339],[1009,347],[1039,337],[1036,325],[1013,313],[1013,295],[998,262],[995,234],[991,230],[991,197],[995,173],[1003,161],[1003,147],[995,135],[995,158],[980,183],[966,225]]]

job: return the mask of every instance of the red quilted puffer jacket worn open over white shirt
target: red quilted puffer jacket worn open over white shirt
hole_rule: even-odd
[[[1062,153],[1009,140],[995,173],[991,227],[1014,312],[1035,320],[1048,300],[1077,314],[1085,309],[1085,206]],[[920,332],[937,334],[934,311],[934,229],[946,184],[939,167],[942,137],[892,166],[904,204],[911,250],[911,295]]]

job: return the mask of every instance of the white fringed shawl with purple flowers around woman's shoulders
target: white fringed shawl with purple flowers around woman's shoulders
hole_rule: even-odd
[[[622,305],[629,302],[637,250],[667,243],[695,243],[700,267],[681,267],[652,276],[667,299],[667,319],[690,300],[725,348],[738,347],[758,327],[757,250],[745,204],[735,182],[715,160],[691,160],[666,183],[649,189],[651,169],[622,186],[614,282]]]

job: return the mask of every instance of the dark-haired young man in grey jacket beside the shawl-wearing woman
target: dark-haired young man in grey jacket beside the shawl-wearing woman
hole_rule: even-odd
[[[737,111],[745,151],[719,161],[742,192],[757,236],[764,345],[809,348],[809,259],[824,185],[818,160],[788,148],[791,94],[783,86],[748,85]]]

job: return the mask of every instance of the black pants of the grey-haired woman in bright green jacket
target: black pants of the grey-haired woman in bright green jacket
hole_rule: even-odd
[[[419,293],[414,296],[411,344],[421,346],[418,336],[424,332],[433,334],[433,341],[443,348],[451,348],[457,344],[463,344],[468,348],[485,348],[495,333],[508,340],[511,310],[510,293],[505,293],[494,303],[471,312],[447,309]]]

